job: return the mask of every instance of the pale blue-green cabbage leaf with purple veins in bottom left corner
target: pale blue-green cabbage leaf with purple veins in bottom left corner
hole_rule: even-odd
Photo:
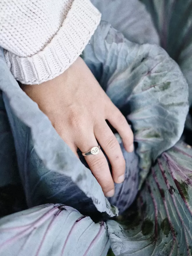
[[[105,256],[106,224],[72,207],[41,205],[0,219],[1,256]]]

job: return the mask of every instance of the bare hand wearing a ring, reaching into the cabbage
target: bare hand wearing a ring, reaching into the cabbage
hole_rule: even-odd
[[[99,142],[111,163],[113,178],[101,150],[97,155],[85,156],[85,159],[104,194],[113,196],[114,182],[124,180],[125,159],[106,120],[118,131],[128,152],[134,149],[133,133],[85,62],[79,57],[53,80],[40,85],[24,85],[22,89],[48,116],[77,157],[77,148],[87,152]]]

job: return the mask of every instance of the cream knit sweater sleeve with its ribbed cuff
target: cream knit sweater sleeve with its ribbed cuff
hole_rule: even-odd
[[[15,79],[38,84],[63,73],[100,16],[89,0],[0,0],[0,46]]]

